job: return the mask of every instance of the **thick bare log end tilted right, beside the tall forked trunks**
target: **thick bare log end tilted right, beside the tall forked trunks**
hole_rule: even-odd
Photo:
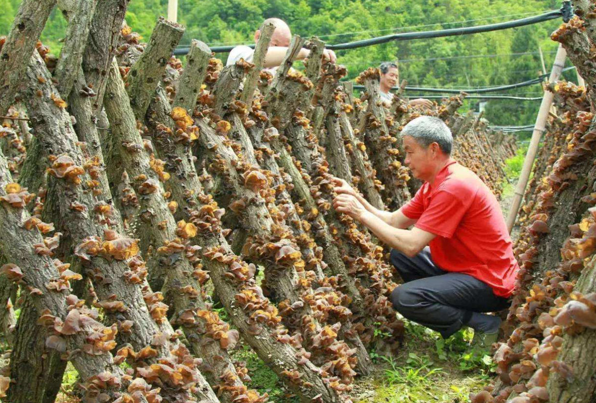
[[[167,61],[184,33],[184,26],[160,17],[151,32],[147,47],[127,76],[127,88],[135,117],[142,120],[157,84],[166,70]],[[105,101],[105,100],[104,100]]]

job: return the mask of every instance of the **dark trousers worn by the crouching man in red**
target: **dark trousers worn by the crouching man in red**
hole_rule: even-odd
[[[391,262],[403,278],[391,293],[393,307],[445,339],[467,324],[472,312],[496,312],[509,305],[471,275],[446,272],[435,265],[428,246],[414,258],[392,249]]]

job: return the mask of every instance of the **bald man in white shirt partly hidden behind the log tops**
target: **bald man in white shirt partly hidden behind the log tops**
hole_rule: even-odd
[[[281,61],[284,60],[285,53],[288,51],[288,47],[290,46],[292,33],[290,31],[290,27],[288,27],[288,24],[286,24],[285,21],[280,20],[280,18],[267,18],[263,24],[266,23],[272,23],[275,26],[275,30],[271,36],[271,41],[269,41],[269,49],[267,49],[267,54],[265,55],[264,67],[266,69],[276,69],[280,66]],[[259,42],[259,38],[260,30],[257,29],[254,32],[255,44]],[[309,51],[309,49],[300,49],[297,60],[303,60],[307,58],[310,52],[311,51]],[[229,52],[226,66],[235,64],[241,58],[252,63],[253,54],[254,49],[251,49],[246,45],[237,46]],[[323,52],[323,58],[324,60],[330,61],[331,63],[335,63],[336,61],[335,53],[329,49],[325,49]]]

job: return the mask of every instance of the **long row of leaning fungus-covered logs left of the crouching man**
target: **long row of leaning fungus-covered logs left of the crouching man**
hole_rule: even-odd
[[[0,396],[53,401],[72,361],[86,401],[265,402],[231,358],[243,340],[301,401],[350,402],[368,352],[398,349],[403,323],[386,251],[331,207],[331,176],[396,209],[417,187],[400,131],[426,113],[448,122],[457,159],[498,193],[511,143],[460,116],[461,97],[384,107],[374,69],[355,97],[316,38],[294,37],[275,76],[260,71],[266,45],[256,64],[224,68],[193,41],[183,69],[171,55],[184,27],[160,18],[141,44],[127,6],[63,10],[58,58],[36,45],[41,27],[0,42],[8,60],[27,55],[22,69],[0,61],[11,69],[0,325],[12,345]],[[305,73],[291,68],[302,47]]]

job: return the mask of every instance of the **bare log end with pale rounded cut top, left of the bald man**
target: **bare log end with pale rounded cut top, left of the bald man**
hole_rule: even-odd
[[[193,112],[197,103],[197,95],[201,91],[203,80],[207,76],[207,66],[211,57],[211,49],[204,42],[193,39],[187,54],[187,64],[176,87],[176,98],[173,106]]]

